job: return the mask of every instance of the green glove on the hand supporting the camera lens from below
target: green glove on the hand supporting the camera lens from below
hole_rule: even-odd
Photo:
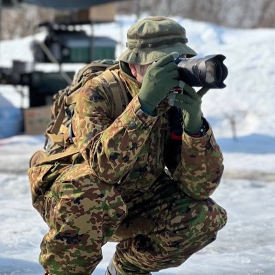
[[[184,117],[184,130],[189,134],[198,133],[203,124],[201,112],[201,96],[197,94],[195,89],[183,83],[181,88],[184,94],[170,93],[168,96],[168,104],[176,106],[182,110]]]

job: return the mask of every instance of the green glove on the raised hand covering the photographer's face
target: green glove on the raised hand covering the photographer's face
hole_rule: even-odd
[[[155,115],[155,108],[166,98],[170,89],[179,85],[179,72],[174,63],[176,54],[168,54],[148,67],[138,93],[141,109],[148,115]]]

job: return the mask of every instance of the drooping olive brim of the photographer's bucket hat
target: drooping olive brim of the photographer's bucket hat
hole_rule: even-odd
[[[159,60],[159,58],[162,58],[162,56],[166,56],[171,52],[178,52],[179,55],[186,54],[186,57],[188,58],[197,55],[197,52],[192,50],[186,44],[176,43],[169,46],[165,45],[162,47],[155,47],[154,49],[126,49],[118,60],[131,64],[146,65]]]

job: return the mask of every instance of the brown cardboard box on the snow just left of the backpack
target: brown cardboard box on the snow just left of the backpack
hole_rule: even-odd
[[[27,135],[43,135],[51,119],[51,106],[25,109],[24,127]]]

